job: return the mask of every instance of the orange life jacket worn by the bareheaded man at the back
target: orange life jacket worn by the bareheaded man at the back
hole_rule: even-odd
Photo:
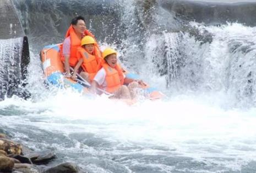
[[[69,36],[70,36],[69,65],[74,67],[78,62],[77,49],[81,45],[81,39],[75,33],[74,28],[73,28],[72,25],[70,25],[70,27],[68,28],[68,31],[66,33],[66,38],[69,37]],[[84,36],[91,36],[95,39],[94,35],[88,30],[84,31]],[[95,45],[99,49],[99,45],[97,43]],[[63,53],[62,53],[62,46],[61,46],[61,60],[62,60],[62,62],[65,61],[65,58],[64,58]]]

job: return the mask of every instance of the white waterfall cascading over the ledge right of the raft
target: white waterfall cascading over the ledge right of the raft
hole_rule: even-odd
[[[165,77],[172,93],[221,92],[232,106],[254,105],[255,27],[190,25],[208,31],[211,42],[187,32],[152,34],[145,45],[145,71]]]

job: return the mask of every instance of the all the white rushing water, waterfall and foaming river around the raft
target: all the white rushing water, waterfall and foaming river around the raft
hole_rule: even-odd
[[[122,18],[106,37],[127,26],[138,30],[127,27],[114,43],[100,35],[102,48],[117,48],[122,62],[166,99],[129,106],[106,96],[47,89],[34,28],[31,99],[0,102],[0,132],[34,150],[50,148],[57,154],[50,164],[74,162],[81,172],[255,172],[256,27],[189,22],[199,34],[156,32],[138,24],[132,2],[118,2]]]

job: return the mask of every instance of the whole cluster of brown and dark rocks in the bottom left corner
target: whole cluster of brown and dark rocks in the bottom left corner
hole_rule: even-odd
[[[79,168],[74,163],[47,166],[56,155],[49,149],[31,151],[28,147],[0,134],[0,172],[13,173],[75,173]]]

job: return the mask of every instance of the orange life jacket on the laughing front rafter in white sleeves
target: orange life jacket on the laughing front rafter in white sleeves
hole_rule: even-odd
[[[102,64],[102,67],[106,71],[106,83],[107,89],[106,91],[109,93],[113,93],[123,85],[124,78],[122,68],[119,65],[116,65],[115,68],[108,65],[106,62]]]

